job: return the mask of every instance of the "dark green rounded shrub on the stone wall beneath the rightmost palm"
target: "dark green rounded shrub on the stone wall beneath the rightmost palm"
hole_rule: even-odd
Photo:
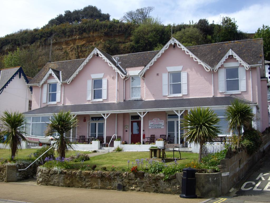
[[[241,144],[246,148],[249,155],[256,152],[262,144],[262,136],[258,130],[246,129],[243,133]]]

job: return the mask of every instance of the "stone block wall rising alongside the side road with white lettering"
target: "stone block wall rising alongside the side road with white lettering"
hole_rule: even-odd
[[[221,173],[221,195],[227,194],[244,175],[270,150],[270,134],[262,136],[262,145],[252,155],[243,148],[238,148],[230,159],[221,160],[219,165]]]

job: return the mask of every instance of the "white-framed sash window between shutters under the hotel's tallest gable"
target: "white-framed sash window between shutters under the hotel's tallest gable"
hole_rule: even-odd
[[[182,94],[181,72],[169,73],[169,95]]]

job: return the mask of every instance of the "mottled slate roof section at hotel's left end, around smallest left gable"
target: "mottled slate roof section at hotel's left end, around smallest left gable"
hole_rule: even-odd
[[[84,60],[85,58],[46,63],[46,65],[35,75],[35,77],[33,77],[29,84],[39,84],[50,69],[61,71],[62,81],[67,81]]]

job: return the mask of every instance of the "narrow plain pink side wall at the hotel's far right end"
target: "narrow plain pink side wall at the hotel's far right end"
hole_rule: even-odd
[[[269,127],[269,117],[268,117],[268,105],[267,105],[267,80],[261,80],[261,90],[262,90],[262,131],[266,127]]]

